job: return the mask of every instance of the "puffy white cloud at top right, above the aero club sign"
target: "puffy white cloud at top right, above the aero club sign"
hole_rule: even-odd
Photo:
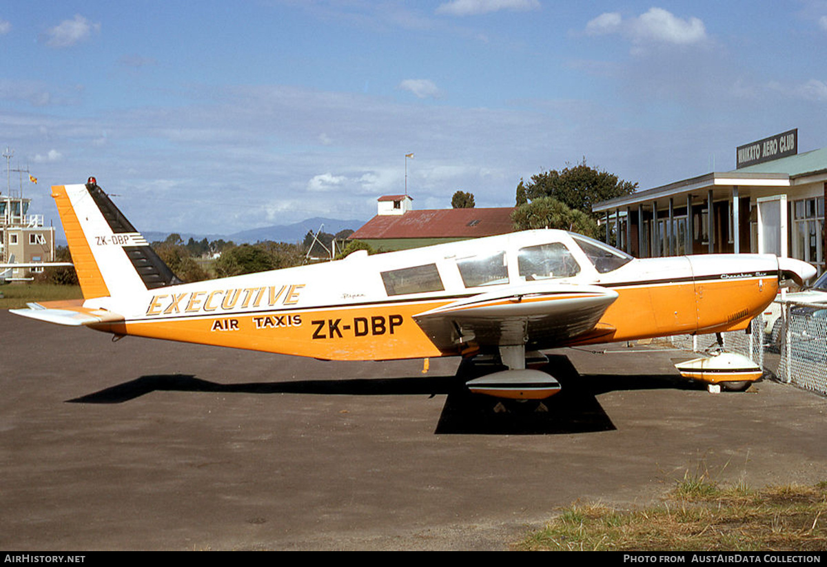
[[[586,33],[592,36],[620,33],[636,45],[693,45],[707,39],[704,22],[699,18],[677,17],[658,7],[649,8],[648,12],[626,20],[617,12],[605,12],[586,24]]]

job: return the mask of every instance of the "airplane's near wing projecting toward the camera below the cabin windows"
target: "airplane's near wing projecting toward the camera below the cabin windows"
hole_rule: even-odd
[[[526,284],[463,298],[414,316],[443,352],[457,346],[560,345],[595,329],[618,293],[596,285]]]

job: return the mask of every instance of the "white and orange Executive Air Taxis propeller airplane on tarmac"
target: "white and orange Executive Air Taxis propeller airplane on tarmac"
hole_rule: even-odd
[[[52,192],[84,299],[18,315],[324,360],[485,355],[503,369],[468,386],[503,398],[559,390],[526,369],[535,351],[745,329],[815,275],[774,255],[637,260],[541,230],[183,284],[97,184]]]

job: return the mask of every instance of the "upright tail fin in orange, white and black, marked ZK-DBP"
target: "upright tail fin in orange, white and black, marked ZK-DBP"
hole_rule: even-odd
[[[84,298],[180,284],[96,183],[52,187]]]

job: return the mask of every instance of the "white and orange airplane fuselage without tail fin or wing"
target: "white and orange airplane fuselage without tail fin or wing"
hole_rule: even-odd
[[[518,311],[516,303],[526,311],[514,324],[526,326],[530,349],[734,330],[762,312],[778,288],[778,261],[771,255],[633,260],[607,251],[611,269],[606,269],[578,242],[562,231],[527,231],[179,284],[85,305],[122,314],[123,322],[93,325],[118,335],[328,360],[388,360],[484,351],[490,341],[477,340],[483,327],[487,335],[507,330],[500,323],[494,331],[480,323],[500,315],[507,319]],[[535,266],[523,261],[525,250],[543,246],[555,250],[552,261],[561,267],[556,274],[534,274]],[[558,250],[564,250],[564,260],[557,258]],[[549,286],[553,293],[547,293]],[[580,330],[568,314],[562,329],[549,330],[543,313],[562,296],[571,300],[581,293],[581,286],[608,289],[616,298],[605,299],[608,307],[596,324],[584,321]],[[489,302],[489,312],[471,306],[459,316],[443,317],[460,321],[451,341],[435,341],[415,319],[483,293],[499,299],[501,312],[491,312]],[[468,326],[473,332],[463,336],[462,327]]]

